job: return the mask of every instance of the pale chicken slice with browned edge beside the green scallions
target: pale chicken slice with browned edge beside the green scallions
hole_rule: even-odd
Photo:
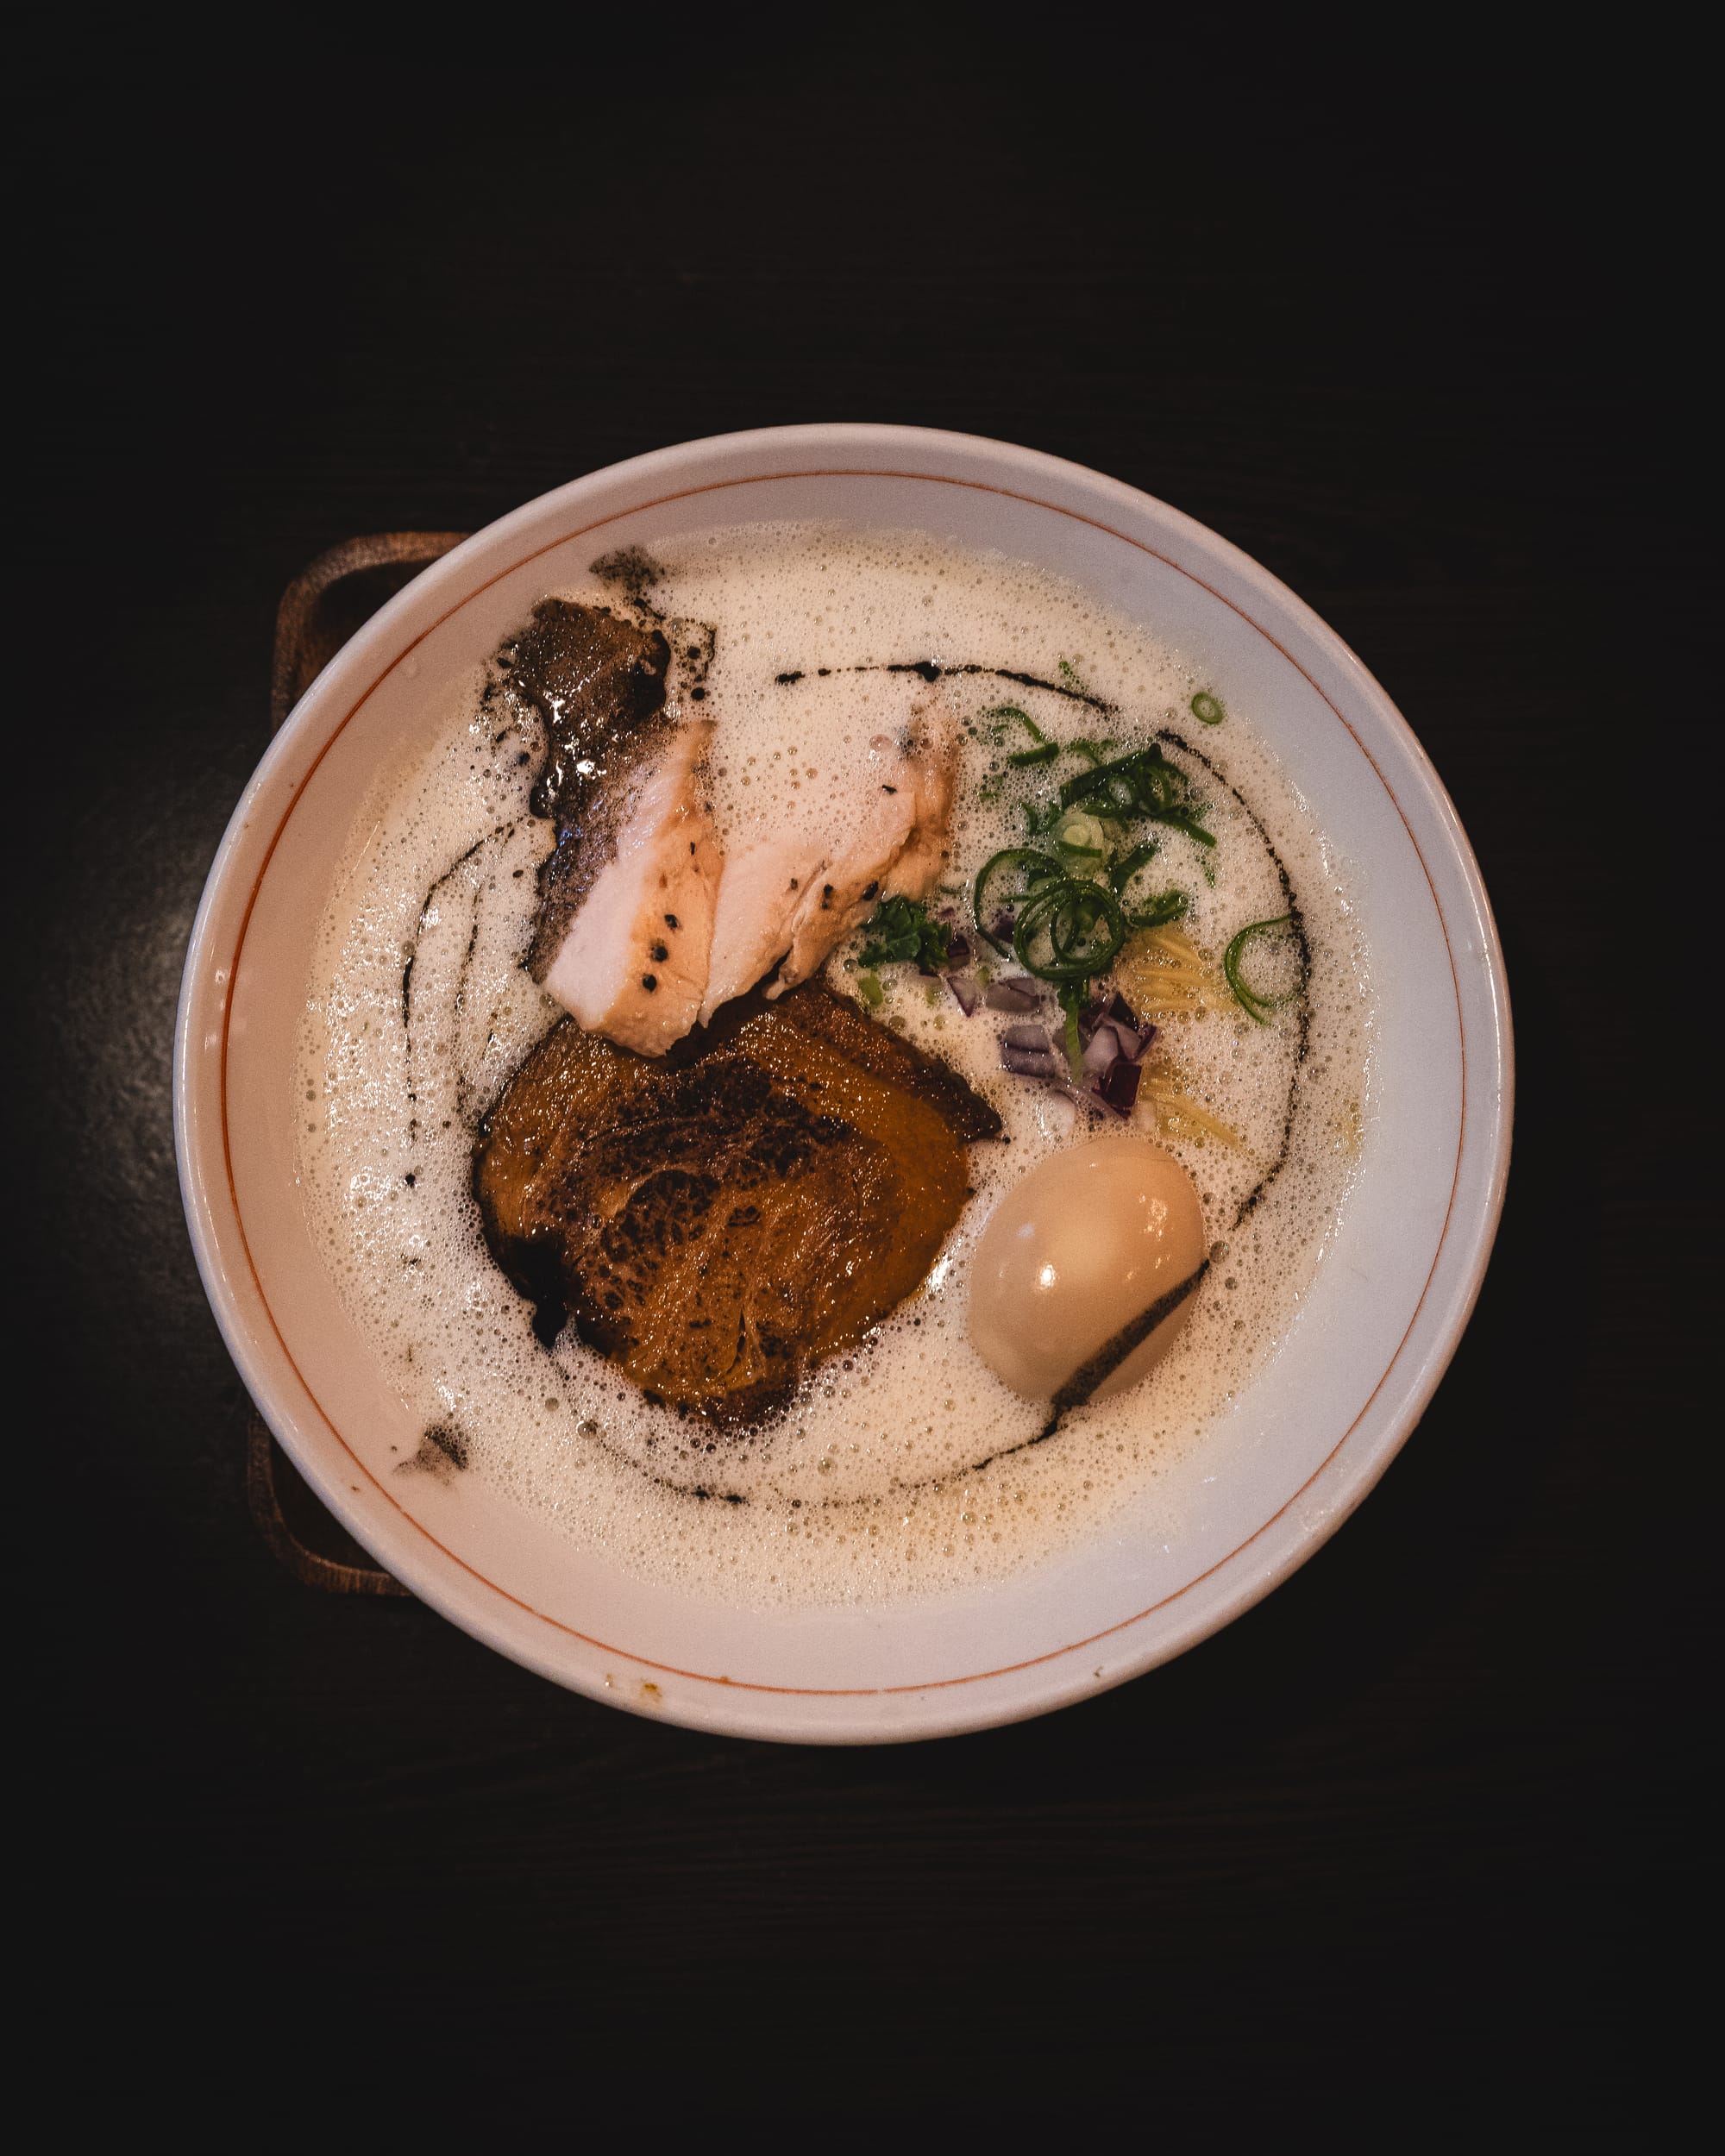
[[[819,972],[880,899],[923,899],[934,890],[951,854],[955,765],[957,722],[938,696],[912,709],[901,735],[873,737],[858,774],[854,821],[843,839],[828,841],[826,860],[804,888],[785,895],[791,903],[770,938],[785,962],[770,996]]]

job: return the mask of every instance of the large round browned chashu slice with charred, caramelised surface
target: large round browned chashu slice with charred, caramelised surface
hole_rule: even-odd
[[[927,1276],[1000,1119],[809,985],[645,1063],[558,1026],[474,1151],[492,1255],[649,1397],[761,1421]]]

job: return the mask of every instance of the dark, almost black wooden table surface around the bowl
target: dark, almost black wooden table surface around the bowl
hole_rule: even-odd
[[[597,2072],[809,2132],[1117,2093],[1339,2122],[1512,2068],[1598,2126],[1645,2100],[1703,1712],[1671,1680],[1708,1119],[1667,1059],[1719,972],[1716,927],[1684,949],[1714,811],[1671,763],[1716,548],[1662,181],[1537,73],[1361,136],[1223,37],[912,50],[319,54],[263,99],[140,37],[32,78],[13,1548],[56,1981],[270,2102],[479,2072],[502,2117]],[[1123,1690],[860,1753],[653,1727],[295,1580],[170,1132],[306,561],[811,418],[1093,464],[1302,593],[1455,796],[1520,1048],[1477,1317],[1343,1533]]]

